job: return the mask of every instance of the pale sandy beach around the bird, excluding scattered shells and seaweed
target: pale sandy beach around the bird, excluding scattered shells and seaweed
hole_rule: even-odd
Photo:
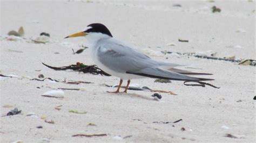
[[[0,74],[7,76],[0,77],[1,142],[255,142],[255,66],[195,57],[255,60],[254,1],[0,4]],[[220,12],[212,12],[213,6]],[[42,64],[94,65],[88,49],[73,54],[87,46],[84,38],[64,39],[91,23],[103,23],[113,37],[153,59],[213,74],[198,77],[214,78],[207,83],[220,88],[143,78],[132,80],[131,86],[177,95],[149,90],[111,94],[107,91],[116,88],[106,85],[117,85],[118,77],[57,71]],[[21,26],[22,37],[8,35]],[[42,32],[50,38],[41,37],[45,43],[35,42]],[[40,74],[60,82],[32,80],[42,80]],[[60,91],[60,98],[42,96],[52,90]],[[154,93],[162,98],[154,99]],[[6,116],[15,108],[21,113]],[[76,134],[99,136],[72,137]]]

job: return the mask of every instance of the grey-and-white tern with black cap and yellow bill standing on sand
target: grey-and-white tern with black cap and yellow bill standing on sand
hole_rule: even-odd
[[[194,73],[174,67],[184,66],[177,63],[159,61],[139,52],[133,46],[113,37],[109,29],[100,23],[87,25],[82,32],[65,38],[85,37],[92,60],[105,73],[120,78],[119,85],[113,93],[119,93],[123,80],[127,80],[125,90],[134,78],[160,78],[176,81],[211,81],[211,78],[198,78],[188,75],[212,75]]]

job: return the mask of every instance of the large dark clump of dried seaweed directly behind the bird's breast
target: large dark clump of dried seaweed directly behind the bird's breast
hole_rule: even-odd
[[[82,71],[83,73],[90,73],[93,75],[105,75],[105,76],[111,76],[110,74],[105,73],[102,69],[98,68],[96,65],[86,66],[83,63],[77,62],[76,65],[70,65],[70,66],[64,66],[64,67],[51,67],[46,65],[45,63],[42,63],[44,66],[54,69],[54,70],[76,70],[76,71]]]

